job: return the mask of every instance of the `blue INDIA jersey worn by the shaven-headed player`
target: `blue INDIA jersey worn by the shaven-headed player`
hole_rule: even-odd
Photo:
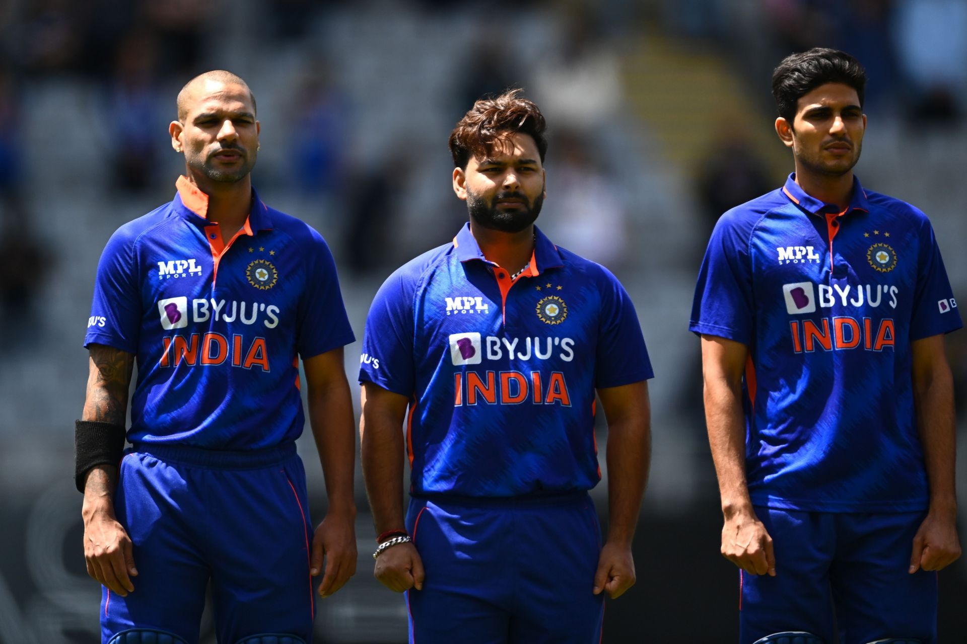
[[[354,339],[332,254],[254,191],[228,240],[207,205],[183,177],[171,203],[114,233],[85,346],[136,356],[132,443],[246,450],[294,440],[305,420],[297,356]]]

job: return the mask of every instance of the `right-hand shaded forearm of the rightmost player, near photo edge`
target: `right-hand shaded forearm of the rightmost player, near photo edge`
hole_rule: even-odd
[[[930,511],[956,514],[953,379],[945,365],[914,383],[917,427],[930,488]]]

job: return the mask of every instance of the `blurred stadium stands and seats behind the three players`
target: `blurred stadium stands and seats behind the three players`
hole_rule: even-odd
[[[551,140],[539,224],[627,285],[658,374],[638,584],[609,602],[605,642],[735,641],[738,574],[718,555],[698,342],[686,329],[718,214],[791,170],[769,92],[785,53],[822,44],[864,63],[858,175],[930,215],[967,301],[964,0],[7,0],[0,34],[3,644],[97,641],[99,588],[84,571],[72,485],[81,342],[104,242],[174,193],[184,166],[166,129],[197,72],[249,81],[262,123],[255,184],[329,240],[358,336],[385,276],[466,218],[446,148],[456,120],[508,86],[541,105]],[[949,348],[963,406],[967,335]],[[357,356],[347,348],[351,382]],[[311,438],[300,451],[319,520]],[[319,602],[316,641],[405,641],[402,598],[371,576],[359,476],[357,503],[358,574]],[[967,559],[940,587],[942,640],[965,641]],[[202,641],[215,641],[210,616]]]

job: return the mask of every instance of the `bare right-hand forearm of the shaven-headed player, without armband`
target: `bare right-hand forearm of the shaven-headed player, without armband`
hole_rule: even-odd
[[[356,437],[353,431],[352,398],[345,378],[310,392],[308,412],[326,481],[329,512],[345,512],[355,516],[353,477]]]

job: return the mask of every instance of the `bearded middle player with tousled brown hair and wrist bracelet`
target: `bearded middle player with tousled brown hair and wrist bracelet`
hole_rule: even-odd
[[[406,592],[411,642],[597,644],[604,593],[634,583],[652,368],[617,279],[534,226],[543,132],[516,91],[474,104],[450,138],[469,224],[396,270],[366,321],[375,575]],[[603,544],[587,492],[601,479],[596,391],[609,426]]]

